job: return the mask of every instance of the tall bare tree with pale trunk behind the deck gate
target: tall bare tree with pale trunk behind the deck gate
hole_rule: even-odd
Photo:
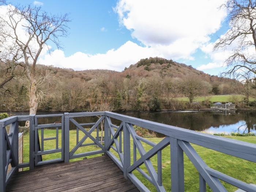
[[[29,80],[30,114],[35,114],[40,97],[41,83],[49,80],[36,72],[36,64],[43,49],[48,49],[48,42],[52,41],[57,48],[61,48],[60,37],[67,36],[68,15],[50,15],[41,10],[41,7],[13,7],[10,6],[7,19],[2,16],[0,21],[7,27],[1,29],[0,34],[14,40],[23,53],[26,66],[26,78]],[[20,27],[25,29],[24,34],[19,33]]]

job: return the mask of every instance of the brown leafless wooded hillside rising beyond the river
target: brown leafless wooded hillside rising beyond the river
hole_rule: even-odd
[[[0,65],[3,78],[6,68]],[[19,67],[18,77],[1,92],[0,110],[29,109],[29,83],[23,70]],[[114,110],[180,109],[182,103],[176,97],[189,97],[192,102],[200,95],[240,94],[242,90],[236,80],[158,57],[142,59],[122,72],[38,65],[37,74],[48,79],[40,84],[39,110],[93,110],[92,106],[102,103]]]

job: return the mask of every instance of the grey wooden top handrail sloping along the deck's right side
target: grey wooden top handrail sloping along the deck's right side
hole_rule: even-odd
[[[105,112],[105,115],[139,127],[147,128],[151,131],[162,133],[163,135],[170,136],[175,139],[184,140],[215,151],[256,162],[256,144],[254,143],[223,138],[217,135],[197,132],[113,112]]]

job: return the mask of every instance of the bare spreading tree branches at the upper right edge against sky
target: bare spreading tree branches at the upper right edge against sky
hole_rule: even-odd
[[[228,11],[230,29],[219,38],[214,49],[231,48],[224,75],[237,78],[240,69],[256,74],[256,1],[227,0],[222,7]]]

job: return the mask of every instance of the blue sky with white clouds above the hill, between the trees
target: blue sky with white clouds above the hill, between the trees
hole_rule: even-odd
[[[19,3],[20,5],[41,5],[42,9],[52,14],[69,13],[69,17],[72,21],[68,24],[70,28],[68,37],[61,38],[63,50],[56,50],[56,52],[53,52],[51,55],[43,55],[41,60],[39,60],[42,64],[70,67],[75,68],[76,70],[94,69],[97,67],[108,69],[116,68],[117,71],[121,71],[125,66],[128,67],[130,64],[136,63],[139,58],[142,59],[144,56],[151,56],[150,54],[152,53],[152,56],[165,57],[166,59],[173,59],[187,65],[192,65],[194,68],[201,69],[211,75],[218,75],[225,69],[223,67],[219,67],[221,66],[222,62],[221,59],[213,59],[214,54],[209,52],[209,49],[208,52],[202,49],[202,46],[210,46],[211,43],[214,43],[220,35],[225,34],[225,32],[228,30],[227,23],[225,22],[225,11],[222,11],[221,13],[216,11],[217,5],[221,4],[223,0],[217,0],[219,1],[218,3],[214,2],[209,4],[202,1],[202,8],[204,9],[203,6],[207,7],[208,9],[210,7],[209,10],[212,11],[212,13],[209,13],[209,10],[206,10],[205,12],[203,11],[201,13],[201,17],[195,17],[192,20],[192,22],[195,22],[195,24],[191,25],[190,30],[193,30],[193,26],[195,26],[195,28],[198,28],[198,26],[203,27],[203,29],[200,31],[195,31],[195,34],[193,35],[182,34],[182,37],[179,37],[179,31],[177,31],[178,29],[182,28],[182,25],[180,27],[180,22],[177,21],[177,18],[169,15],[169,13],[167,13],[168,10],[166,15],[161,15],[161,12],[158,14],[158,11],[161,11],[162,7],[159,7],[158,10],[158,5],[154,5],[150,1],[151,3],[148,3],[149,5],[147,9],[150,10],[151,6],[155,9],[156,14],[154,15],[153,12],[153,14],[143,17],[143,15],[148,14],[148,12],[143,12],[146,8],[143,8],[143,4],[138,4],[138,1],[133,0],[129,1],[128,4],[125,1],[126,0],[40,0],[36,2],[33,0],[12,0],[11,3]],[[178,7],[179,5],[176,2],[173,2],[173,4],[169,4],[169,2],[163,6],[170,5],[169,10],[174,12],[176,8],[174,9],[173,7]],[[191,4],[191,6],[193,6],[193,4]],[[195,6],[197,5],[195,4]],[[216,8],[212,6],[215,6]],[[117,7],[118,9],[114,10],[114,8]],[[140,7],[141,15],[136,15],[138,14],[138,8]],[[191,9],[191,7],[189,7],[189,9]],[[127,16],[128,13],[131,13],[131,15]],[[201,20],[201,18],[208,15],[208,13],[210,15],[209,18],[206,16],[205,19]],[[122,14],[126,16],[122,16]],[[151,15],[153,15],[154,18],[150,17]],[[168,18],[169,16],[170,18]],[[159,23],[158,20],[155,20],[155,18],[159,20]],[[151,23],[147,23],[150,19],[157,23],[152,22],[151,26]],[[127,20],[129,21],[127,22]],[[184,20],[181,20],[181,22],[184,22]],[[189,23],[189,21],[187,22]],[[211,25],[210,22],[213,22],[213,24]],[[170,25],[172,25],[172,27],[166,28],[166,25],[169,25],[168,23],[171,23]],[[199,23],[205,24],[199,25]],[[154,25],[157,25],[159,28],[155,30]],[[206,29],[204,29],[204,26],[206,26]],[[143,27],[148,27],[148,30],[144,30]],[[150,29],[150,27],[152,27],[152,29]],[[208,29],[211,27],[212,29]],[[168,33],[164,33],[163,30],[167,31]],[[205,34],[201,34],[200,32],[204,30],[206,31]],[[198,35],[200,42],[197,42],[198,45],[195,46],[195,48],[191,48],[194,46],[193,42],[197,41],[196,33],[200,33],[200,35]],[[170,34],[170,38],[168,34]],[[165,37],[165,35],[167,43],[165,43],[165,39],[161,39],[161,37]],[[176,37],[177,39],[180,38],[178,40],[180,40],[181,43],[178,43],[178,41],[177,43],[175,42]],[[206,37],[208,38],[207,40],[205,40]],[[184,39],[189,38],[194,38],[194,40],[186,44],[187,41]],[[175,46],[177,45],[184,46],[184,54],[182,54],[182,47],[178,48],[180,51],[177,51],[176,53]],[[56,49],[53,45],[51,46],[53,47],[53,50]],[[109,50],[112,51],[110,51],[109,54],[106,54]],[[133,53],[134,50],[136,50],[136,53]],[[118,57],[118,55],[125,57],[126,53],[127,58],[114,58]],[[60,57],[62,58],[61,60],[58,59]],[[84,60],[86,61],[84,62]],[[106,61],[106,64],[104,64],[104,61]],[[64,65],[64,63],[67,64]],[[97,65],[97,63],[101,64]],[[211,66],[209,67],[207,65],[209,63],[216,63],[217,67],[213,67],[215,64],[210,64]],[[206,66],[202,67],[202,65]]]

